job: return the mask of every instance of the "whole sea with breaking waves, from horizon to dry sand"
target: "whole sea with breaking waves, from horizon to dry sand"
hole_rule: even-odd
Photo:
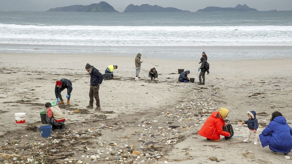
[[[233,60],[291,57],[291,46],[292,11],[0,11],[0,52],[123,56],[140,52],[149,58],[188,60],[205,51],[214,60]]]

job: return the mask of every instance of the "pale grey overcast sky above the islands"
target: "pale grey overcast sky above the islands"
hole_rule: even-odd
[[[0,10],[4,11],[46,11],[50,8],[64,7],[75,4],[89,5],[102,0],[0,0]],[[292,10],[292,0],[103,0],[119,12],[123,12],[129,4],[159,5],[175,7],[195,12],[207,6],[235,7],[237,4],[246,4],[259,11]]]

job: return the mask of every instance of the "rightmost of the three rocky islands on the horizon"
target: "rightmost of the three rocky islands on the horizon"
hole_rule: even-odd
[[[258,10],[248,7],[246,4],[244,5],[238,4],[236,7],[209,6],[209,7],[206,7],[205,9],[199,9],[196,12],[221,12],[221,11],[258,11]]]

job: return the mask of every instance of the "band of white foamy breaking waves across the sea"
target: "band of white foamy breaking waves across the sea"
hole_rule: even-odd
[[[36,26],[0,23],[0,43],[92,46],[292,45],[292,26]]]

